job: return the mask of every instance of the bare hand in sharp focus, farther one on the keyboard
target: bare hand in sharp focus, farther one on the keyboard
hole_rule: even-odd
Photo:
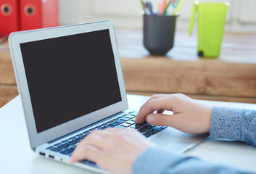
[[[172,111],[173,115],[162,114],[165,110]],[[211,107],[183,94],[153,95],[141,107],[136,123],[146,120],[152,125],[168,125],[186,133],[207,133],[211,112]]]

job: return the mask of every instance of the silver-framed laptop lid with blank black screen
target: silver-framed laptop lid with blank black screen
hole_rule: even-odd
[[[12,33],[9,46],[33,149],[128,108],[110,20]]]

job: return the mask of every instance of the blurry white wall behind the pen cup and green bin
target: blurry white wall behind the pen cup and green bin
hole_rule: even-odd
[[[157,0],[152,0],[155,3]],[[256,32],[256,1],[228,0],[226,30]],[[178,30],[187,30],[192,0],[184,0],[178,17]],[[115,28],[142,28],[139,0],[59,0],[62,25],[111,19]]]

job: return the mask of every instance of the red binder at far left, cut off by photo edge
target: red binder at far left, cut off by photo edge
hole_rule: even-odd
[[[18,1],[0,0],[0,37],[19,30]]]

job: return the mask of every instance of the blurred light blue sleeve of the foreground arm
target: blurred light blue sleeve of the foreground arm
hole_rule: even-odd
[[[233,167],[202,161],[196,157],[176,154],[152,147],[139,155],[132,167],[133,174],[167,173],[244,173]]]

